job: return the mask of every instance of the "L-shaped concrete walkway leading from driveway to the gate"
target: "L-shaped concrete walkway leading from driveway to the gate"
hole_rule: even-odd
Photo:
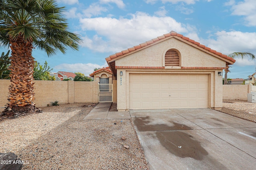
[[[88,119],[130,119],[129,111],[109,111],[111,102],[99,103],[95,106],[84,120]]]

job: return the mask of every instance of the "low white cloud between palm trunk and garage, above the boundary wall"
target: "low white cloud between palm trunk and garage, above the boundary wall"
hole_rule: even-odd
[[[76,63],[76,64],[60,64],[54,67],[56,70],[62,70],[62,71],[67,71],[67,72],[81,72],[86,76],[89,76],[94,71],[94,68],[102,68],[102,67],[107,67],[108,64],[105,63],[104,65],[100,66],[98,64],[92,64],[92,63],[87,63],[87,64],[82,64],[82,63]]]

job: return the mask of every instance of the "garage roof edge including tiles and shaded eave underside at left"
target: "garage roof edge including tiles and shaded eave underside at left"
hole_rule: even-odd
[[[189,45],[192,45],[202,51],[205,51],[207,53],[212,53],[212,55],[216,55],[216,57],[226,61],[227,64],[234,64],[234,62],[236,61],[235,59],[233,59],[232,57],[228,57],[227,55],[224,55],[220,52],[217,52],[213,49],[210,49],[209,47],[206,47],[205,45],[202,45],[192,39],[189,39],[188,37],[185,37],[181,34],[178,34],[176,33],[175,31],[171,31],[170,33],[167,33],[167,34],[164,34],[160,37],[156,37],[150,41],[146,41],[145,43],[142,43],[140,45],[136,45],[132,48],[129,48],[129,49],[126,49],[124,51],[121,51],[119,53],[116,53],[114,55],[110,55],[109,57],[106,58],[106,61],[108,62],[108,65],[110,66],[111,70],[114,72],[114,74],[116,74],[116,70],[115,70],[115,62],[116,59],[120,59],[122,57],[125,57],[127,55],[130,55],[131,53],[134,53],[134,52],[137,52],[137,51],[140,51],[142,49],[145,49],[147,47],[150,47],[154,44],[157,44],[157,43],[160,43],[166,39],[169,39],[169,38],[176,38],[176,39],[179,39],[181,41],[183,41],[184,43],[187,43]]]

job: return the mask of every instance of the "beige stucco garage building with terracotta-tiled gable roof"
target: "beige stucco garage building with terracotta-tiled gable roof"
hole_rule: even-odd
[[[235,60],[174,31],[106,58],[117,109],[222,107],[222,70]]]

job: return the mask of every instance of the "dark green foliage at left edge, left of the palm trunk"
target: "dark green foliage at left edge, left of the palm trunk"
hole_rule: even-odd
[[[4,55],[0,57],[0,79],[7,79],[9,77],[9,70],[8,67],[10,66],[10,57],[9,57],[10,50]]]

